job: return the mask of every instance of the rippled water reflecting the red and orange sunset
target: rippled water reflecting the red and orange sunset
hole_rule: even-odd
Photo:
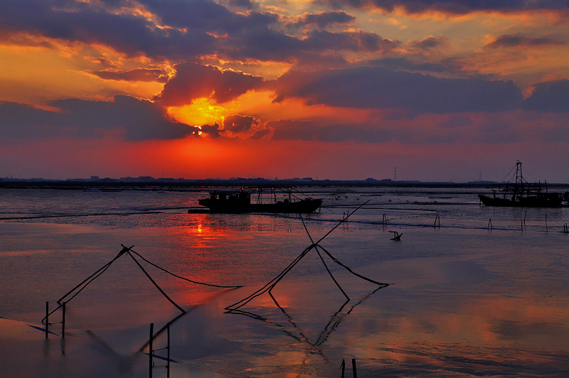
[[[226,314],[312,242],[282,215],[188,214],[203,191],[2,190],[0,316],[38,325],[46,301],[111,261],[121,244],[198,286],[140,261],[188,313],[171,325],[171,377],[567,377],[569,209],[479,206],[453,188],[309,188],[314,241],[272,295]],[[366,202],[368,201],[368,202]],[[437,227],[435,227],[437,225]],[[440,225],[440,227],[439,227]],[[403,232],[400,242],[390,231]],[[375,291],[375,292],[374,292]],[[280,306],[277,306],[278,305]],[[66,337],[0,322],[0,376],[141,377],[149,324],[180,314],[129,257],[68,303]],[[53,314],[60,320],[60,312]],[[60,325],[53,325],[60,333]],[[164,347],[166,335],[155,341]],[[164,355],[164,350],[157,354]],[[156,360],[154,377],[166,377]],[[4,375],[3,375],[4,374]],[[346,372],[351,377],[351,372]]]

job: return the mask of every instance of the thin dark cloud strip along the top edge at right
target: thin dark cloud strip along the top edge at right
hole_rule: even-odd
[[[388,12],[401,7],[408,13],[442,11],[464,14],[472,11],[509,12],[537,9],[568,9],[567,2],[559,0],[320,0],[319,2],[334,6],[347,4],[356,8],[372,7]]]

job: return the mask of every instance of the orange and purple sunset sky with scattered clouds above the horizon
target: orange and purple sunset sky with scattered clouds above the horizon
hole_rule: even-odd
[[[0,177],[569,183],[568,1],[0,4]]]

